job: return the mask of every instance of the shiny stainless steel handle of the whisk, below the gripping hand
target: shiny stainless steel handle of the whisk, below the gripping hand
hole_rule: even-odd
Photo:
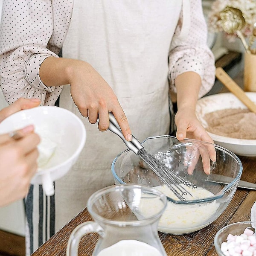
[[[125,140],[124,135],[122,134],[122,131],[120,129],[120,126],[118,125],[118,122],[116,121],[115,116],[113,113],[109,113],[109,127],[108,130],[112,131],[114,134],[118,135],[125,145],[131,149],[135,154],[138,154],[138,151],[143,148],[143,145],[133,136],[131,135],[131,141]]]

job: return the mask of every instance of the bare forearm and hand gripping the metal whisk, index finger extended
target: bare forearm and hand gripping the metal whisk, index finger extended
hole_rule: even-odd
[[[89,122],[99,119],[99,131],[109,126],[108,113],[112,112],[125,139],[131,140],[131,130],[111,86],[87,62],[66,58],[46,58],[40,67],[41,80],[47,86],[70,84],[74,103]]]

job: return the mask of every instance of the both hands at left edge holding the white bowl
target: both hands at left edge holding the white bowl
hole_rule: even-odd
[[[0,111],[0,122],[23,109],[40,105],[39,99],[20,98]],[[37,170],[40,138],[34,126],[28,125],[13,133],[0,135],[0,206],[24,198],[30,180]]]

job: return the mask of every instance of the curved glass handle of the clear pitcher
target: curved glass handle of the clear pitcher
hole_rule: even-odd
[[[87,233],[98,233],[104,236],[104,230],[95,221],[86,221],[78,225],[71,233],[67,242],[67,256],[78,256],[78,247],[81,238]]]

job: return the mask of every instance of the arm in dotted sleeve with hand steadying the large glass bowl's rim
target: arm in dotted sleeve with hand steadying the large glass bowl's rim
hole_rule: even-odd
[[[196,118],[195,106],[198,97],[207,93],[214,84],[215,60],[207,47],[207,25],[201,0],[188,3],[189,10],[186,9],[180,17],[169,55],[171,90],[177,97],[176,136],[178,140],[190,137],[212,143]],[[179,38],[182,26],[185,26],[185,30],[183,28],[183,37]]]

